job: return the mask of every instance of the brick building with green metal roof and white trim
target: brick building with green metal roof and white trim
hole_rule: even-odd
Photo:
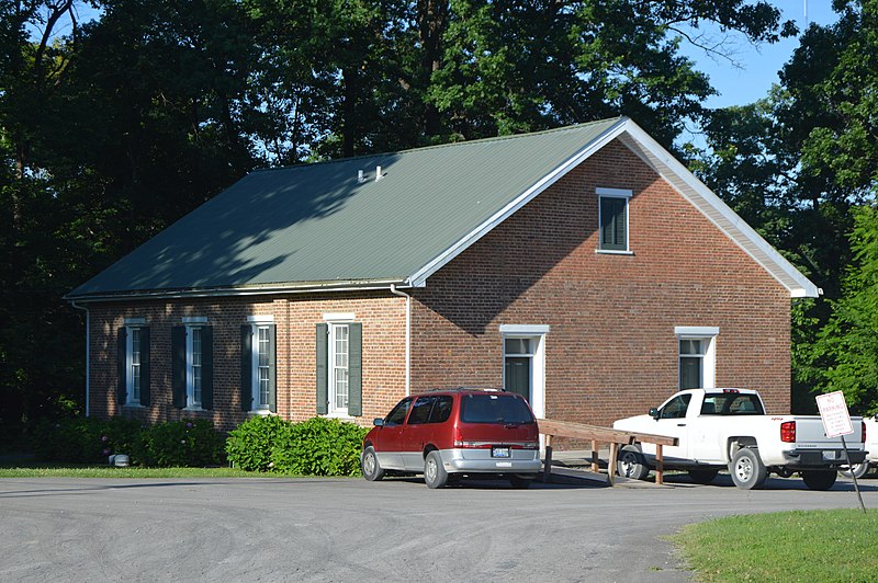
[[[628,118],[254,172],[68,295],[89,414],[316,414],[505,387],[609,424],[679,387],[789,410],[819,289]]]

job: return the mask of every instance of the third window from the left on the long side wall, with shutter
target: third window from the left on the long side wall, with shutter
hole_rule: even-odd
[[[271,316],[251,316],[240,329],[240,402],[244,411],[278,410],[277,327]]]

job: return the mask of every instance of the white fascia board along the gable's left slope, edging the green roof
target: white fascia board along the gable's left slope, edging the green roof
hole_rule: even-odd
[[[420,270],[412,274],[407,278],[407,283],[413,287],[423,287],[430,275],[441,270],[451,260],[463,253],[470,245],[491,232],[494,227],[509,218],[516,210],[528,204],[549,186],[561,180],[567,172],[576,168],[584,160],[587,160],[592,157],[592,155],[599,151],[610,141],[616,139],[624,130],[627,123],[630,123],[627,117],[620,118],[604,134],[586,144],[582,150],[576,152],[569,160],[564,161],[549,174],[539,179],[530,188],[516,196],[511,202],[509,202],[509,204],[495,213],[491,218],[458,240],[458,242],[455,242],[453,245],[446,249],[438,256],[434,258]]]

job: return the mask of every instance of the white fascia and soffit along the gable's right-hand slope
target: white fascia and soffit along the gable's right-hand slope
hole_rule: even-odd
[[[790,297],[815,298],[821,294],[820,288],[802,275],[652,136],[630,119],[626,119],[624,132],[645,150],[645,156],[641,156],[641,158],[720,231],[777,279],[789,292]],[[634,151],[634,153],[640,156],[640,152]]]

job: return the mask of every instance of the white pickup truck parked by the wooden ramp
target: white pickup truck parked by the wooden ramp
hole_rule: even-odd
[[[845,438],[851,464],[866,457],[865,425],[853,418],[854,433]],[[846,466],[840,438],[829,438],[819,416],[768,415],[762,398],[746,389],[679,391],[648,415],[621,419],[616,430],[677,437],[665,446],[664,467],[687,470],[695,482],[709,483],[729,469],[739,488],[759,488],[770,472],[785,478],[798,471],[812,490],[829,490]],[[620,476],[642,480],[655,466],[655,445],[621,448]]]

